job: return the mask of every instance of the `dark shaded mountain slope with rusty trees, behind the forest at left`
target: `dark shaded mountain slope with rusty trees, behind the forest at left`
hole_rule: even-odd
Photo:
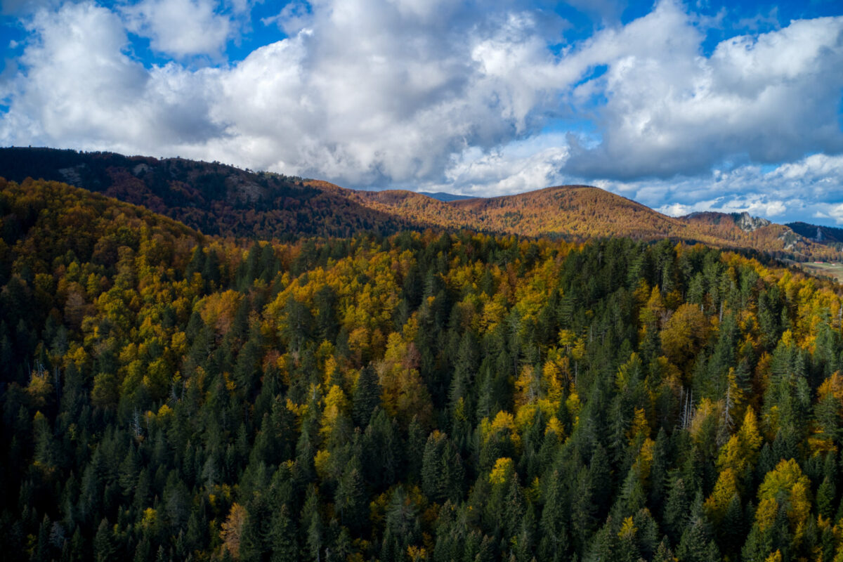
[[[391,233],[410,226],[302,179],[221,163],[158,160],[51,148],[0,149],[0,176],[51,179],[97,191],[184,222],[206,234],[290,239]]]

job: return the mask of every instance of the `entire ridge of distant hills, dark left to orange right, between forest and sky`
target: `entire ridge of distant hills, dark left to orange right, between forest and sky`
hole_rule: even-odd
[[[361,231],[467,228],[569,240],[670,238],[757,249],[792,260],[843,260],[838,249],[812,239],[816,227],[811,225],[806,226],[813,233],[811,228],[791,228],[746,213],[668,217],[588,185],[465,198],[406,190],[348,190],[315,179],[184,158],[23,147],[0,149],[0,176],[67,182],[145,206],[202,233],[240,238],[289,240],[345,237]],[[843,230],[823,228],[828,239],[843,240]]]

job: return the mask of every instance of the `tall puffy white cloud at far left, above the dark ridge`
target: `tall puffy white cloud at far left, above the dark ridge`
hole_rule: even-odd
[[[148,72],[123,52],[121,19],[92,3],[39,12],[27,29],[38,37],[24,51],[25,79],[6,94],[4,144],[45,144],[129,153],[201,144],[219,134],[208,119],[207,72],[175,64]],[[22,142],[23,141],[23,142]]]

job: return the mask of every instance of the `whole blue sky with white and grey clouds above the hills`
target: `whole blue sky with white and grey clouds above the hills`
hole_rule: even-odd
[[[843,225],[843,3],[0,0],[0,146]]]

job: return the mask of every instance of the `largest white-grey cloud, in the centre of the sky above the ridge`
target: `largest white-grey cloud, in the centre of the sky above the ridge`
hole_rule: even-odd
[[[443,181],[464,148],[487,151],[529,131],[547,96],[531,71],[551,60],[535,19],[493,13],[481,26],[452,4],[314,3],[298,35],[221,74],[214,115],[228,125],[224,144],[257,167],[422,185]],[[294,27],[302,13],[291,10]]]

